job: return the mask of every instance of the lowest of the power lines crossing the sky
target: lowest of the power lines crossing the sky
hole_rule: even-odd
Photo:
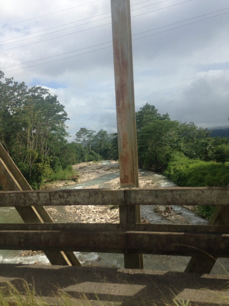
[[[225,15],[225,14],[228,14],[228,13],[229,13],[229,12],[227,12],[227,13],[222,13],[222,14],[215,15],[215,16],[208,17],[208,18],[204,18],[204,19],[201,19],[201,20],[198,20],[198,21],[194,21],[194,22],[190,22],[190,23],[187,23],[187,24],[183,24],[183,25],[180,25],[180,26],[175,27],[175,28],[167,29],[167,30],[164,30],[164,31],[161,31],[161,32],[157,32],[157,33],[153,33],[153,34],[150,34],[150,35],[146,35],[146,36],[143,36],[143,37],[140,37],[140,38],[133,39],[133,41],[138,40],[138,39],[142,39],[142,38],[146,38],[146,37],[149,37],[149,36],[152,36],[152,35],[164,33],[164,32],[167,32],[167,31],[171,31],[171,30],[174,30],[174,29],[177,29],[177,28],[181,28],[181,27],[187,26],[187,25],[189,25],[189,24],[194,24],[194,23],[197,23],[197,22],[200,22],[200,21],[205,21],[205,20],[208,20],[208,19],[211,19],[211,18],[214,18],[214,17],[222,16],[222,15]],[[146,31],[146,32],[147,32],[147,31]],[[143,32],[142,32],[142,33],[143,33]],[[140,34],[140,33],[139,33],[139,34]],[[137,34],[136,34],[136,35],[137,35]],[[109,43],[109,42],[107,42],[107,43]],[[72,57],[76,57],[76,56],[79,56],[79,55],[88,54],[88,53],[92,53],[92,52],[99,51],[99,50],[104,50],[104,49],[111,48],[111,47],[112,47],[112,46],[108,46],[108,47],[104,47],[104,48],[100,48],[100,49],[96,49],[96,50],[84,52],[84,53],[81,53],[81,54],[72,55],[72,56],[69,56],[69,57],[66,57],[66,58],[56,59],[56,60],[54,60],[54,61],[49,61],[49,62],[45,62],[45,63],[40,63],[40,64],[36,64],[36,65],[31,65],[31,66],[24,67],[24,68],[14,69],[14,70],[7,71],[7,72],[5,72],[5,73],[9,73],[9,72],[17,71],[17,70],[22,70],[22,69],[27,69],[27,68],[31,68],[31,67],[35,67],[35,66],[39,66],[39,65],[44,65],[44,64],[48,64],[48,63],[52,63],[52,62],[57,62],[57,61],[61,61],[61,60],[63,60],[63,59],[72,58]],[[73,51],[72,51],[72,52],[73,52]],[[19,64],[19,65],[20,65],[20,64]],[[5,67],[5,68],[6,68],[6,67]]]

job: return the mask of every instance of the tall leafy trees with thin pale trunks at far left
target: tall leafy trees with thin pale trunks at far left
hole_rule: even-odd
[[[66,120],[56,95],[42,87],[28,88],[13,78],[4,80],[0,71],[0,141],[28,181],[39,181],[36,188],[51,170],[57,144],[66,143]]]

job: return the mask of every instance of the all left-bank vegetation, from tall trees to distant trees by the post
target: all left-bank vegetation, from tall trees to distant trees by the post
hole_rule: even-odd
[[[77,143],[68,143],[67,120],[56,95],[0,71],[0,142],[33,189],[44,179],[68,176],[69,165],[113,158],[113,134],[89,131],[93,144],[87,146],[81,132]]]

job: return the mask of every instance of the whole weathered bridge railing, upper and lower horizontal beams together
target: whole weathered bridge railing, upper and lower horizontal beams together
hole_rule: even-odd
[[[120,213],[118,224],[3,223],[0,224],[0,249],[183,256],[206,252],[214,257],[229,257],[229,226],[143,224],[128,221],[128,209],[133,205],[227,206],[228,199],[229,188],[0,192],[0,207],[118,205]]]

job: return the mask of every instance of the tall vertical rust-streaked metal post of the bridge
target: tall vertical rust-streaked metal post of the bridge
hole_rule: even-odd
[[[136,118],[134,106],[133,58],[129,0],[111,0],[118,126],[118,157],[121,187],[138,187]],[[140,223],[140,208],[120,207],[120,220]],[[122,216],[121,216],[122,215]],[[125,222],[126,221],[126,222]],[[142,255],[125,254],[125,268],[143,268]]]

